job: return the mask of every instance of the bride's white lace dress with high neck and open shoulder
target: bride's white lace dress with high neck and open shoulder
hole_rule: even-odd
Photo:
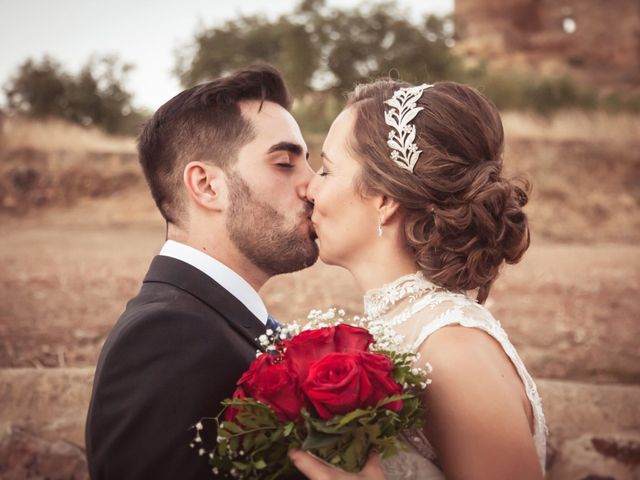
[[[385,332],[388,337],[391,332],[396,341],[401,341],[413,351],[417,351],[429,335],[447,325],[479,328],[497,340],[516,368],[531,402],[533,439],[544,471],[547,429],[536,385],[500,322],[489,310],[466,295],[436,287],[420,272],[368,291],[364,297],[364,308],[369,318],[368,327],[374,335]],[[434,463],[436,454],[422,431],[408,433],[403,440],[409,448],[384,461],[388,480],[445,478]]]

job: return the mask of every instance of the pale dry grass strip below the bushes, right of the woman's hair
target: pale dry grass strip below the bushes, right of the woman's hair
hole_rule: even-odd
[[[626,142],[640,139],[640,115],[629,113],[560,111],[550,117],[525,112],[504,112],[507,137],[532,140]]]

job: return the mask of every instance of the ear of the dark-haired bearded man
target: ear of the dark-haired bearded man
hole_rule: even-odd
[[[226,177],[220,167],[204,162],[189,162],[183,178],[189,198],[207,210],[222,211],[226,201]]]

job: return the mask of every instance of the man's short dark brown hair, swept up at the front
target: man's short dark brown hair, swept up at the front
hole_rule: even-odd
[[[162,105],[138,137],[140,164],[151,195],[169,223],[181,225],[184,166],[203,161],[229,167],[255,132],[239,102],[274,102],[289,110],[280,73],[269,65],[239,70],[185,90]]]

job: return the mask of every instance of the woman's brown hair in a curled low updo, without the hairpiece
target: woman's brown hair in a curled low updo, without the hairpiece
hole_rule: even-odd
[[[380,80],[349,95],[347,108],[356,112],[349,148],[364,167],[356,188],[400,203],[406,240],[429,280],[453,291],[478,289],[484,303],[502,263],[517,263],[529,247],[522,210],[529,184],[502,176],[504,131],[495,105],[454,82],[423,91],[423,110],[411,121],[422,153],[413,173],[400,168],[390,158],[384,102],[410,86]]]

